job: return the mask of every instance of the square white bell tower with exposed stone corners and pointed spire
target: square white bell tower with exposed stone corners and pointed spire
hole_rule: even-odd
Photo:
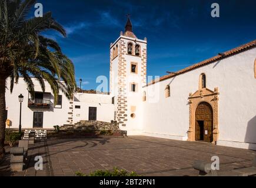
[[[142,130],[142,87],[147,84],[147,38],[138,39],[128,16],[125,32],[110,46],[110,93],[115,120],[128,135]]]

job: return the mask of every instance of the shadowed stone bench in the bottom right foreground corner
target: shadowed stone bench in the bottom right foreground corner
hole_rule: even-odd
[[[256,157],[254,158],[251,167],[233,169],[218,173],[217,170],[211,169],[211,163],[201,160],[195,161],[193,167],[195,170],[199,170],[199,176],[256,176]]]

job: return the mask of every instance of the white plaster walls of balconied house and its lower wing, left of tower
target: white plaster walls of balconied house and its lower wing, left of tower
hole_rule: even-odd
[[[35,84],[35,91],[42,92],[39,82],[33,78]],[[7,83],[9,88],[9,81]],[[24,95],[24,102],[22,103],[22,128],[32,129],[34,112],[44,112],[43,128],[53,129],[55,125],[69,124],[68,113],[72,109],[69,109],[71,105],[64,93],[60,91],[59,95],[62,95],[62,108],[54,108],[54,95],[51,93],[51,87],[45,82],[45,92],[51,93],[51,108],[28,108],[29,93],[26,89],[27,86],[24,80],[19,79],[19,83],[14,86],[14,91],[11,94],[9,90],[6,90],[6,110],[8,110],[8,119],[11,120],[11,128],[19,127],[19,101],[18,96],[22,93]],[[75,109],[75,105],[81,106],[81,109]],[[97,120],[103,122],[111,122],[114,120],[114,105],[112,105],[112,98],[109,95],[100,94],[87,94],[87,93],[75,93],[73,104],[73,122],[77,123],[80,120],[88,120],[89,107],[97,107]],[[79,115],[79,116],[78,116]]]

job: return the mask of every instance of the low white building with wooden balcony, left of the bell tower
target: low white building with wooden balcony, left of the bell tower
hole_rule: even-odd
[[[54,106],[54,95],[50,85],[45,82],[45,92],[35,78],[35,96],[32,98],[26,89],[23,79],[15,85],[13,93],[6,92],[7,118],[11,121],[11,128],[19,127],[18,96],[22,94],[22,128],[53,129],[55,125],[74,125],[80,120],[99,120],[111,122],[113,120],[114,105],[112,98],[105,94],[75,93],[73,100],[68,100],[59,91],[57,105]],[[8,86],[9,84],[7,84]],[[90,112],[90,113],[89,113]]]

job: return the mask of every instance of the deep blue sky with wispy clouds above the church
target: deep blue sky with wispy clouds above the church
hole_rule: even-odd
[[[148,75],[163,76],[256,39],[252,0],[38,2],[67,30],[67,38],[44,34],[72,59],[83,89],[96,89],[99,75],[109,77],[109,44],[124,31],[127,14],[135,35],[148,39]],[[214,2],[220,18],[211,17]]]

